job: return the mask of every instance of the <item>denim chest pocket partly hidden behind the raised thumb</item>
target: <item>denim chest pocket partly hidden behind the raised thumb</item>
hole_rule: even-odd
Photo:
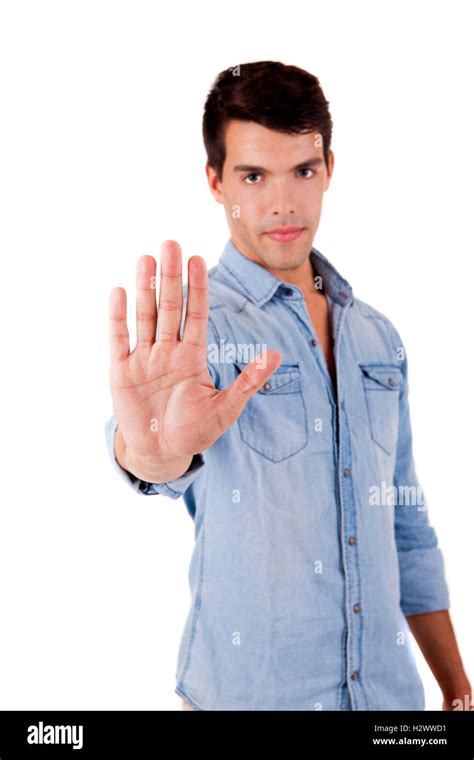
[[[234,366],[238,374],[247,365]],[[280,364],[247,402],[237,424],[242,441],[272,462],[301,451],[308,443],[308,425],[299,365]]]

